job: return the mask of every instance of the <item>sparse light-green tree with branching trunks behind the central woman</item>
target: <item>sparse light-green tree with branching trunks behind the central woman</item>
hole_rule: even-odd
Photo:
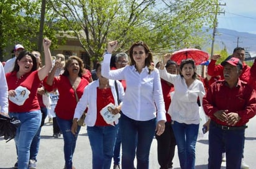
[[[201,46],[203,25],[213,23],[215,0],[51,0],[52,9],[96,62],[107,40],[118,40],[118,51],[144,40],[154,52]],[[157,8],[158,7],[158,8]]]

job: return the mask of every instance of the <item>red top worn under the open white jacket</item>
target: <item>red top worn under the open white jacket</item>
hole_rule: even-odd
[[[95,126],[111,126],[104,121],[103,116],[101,116],[101,109],[103,109],[107,104],[114,104],[114,97],[111,92],[111,88],[99,89],[97,88],[97,119]]]

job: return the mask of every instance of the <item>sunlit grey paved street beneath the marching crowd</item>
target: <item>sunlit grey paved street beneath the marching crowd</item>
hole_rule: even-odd
[[[48,121],[48,120],[46,120]],[[245,162],[250,168],[256,168],[255,160],[255,145],[256,145],[256,117],[251,119],[248,124],[249,128],[246,129],[245,134],[245,149],[244,156]],[[52,124],[46,123],[42,128],[40,150],[38,155],[37,168],[42,169],[61,169],[64,166],[63,157],[63,138],[54,139],[52,137]],[[198,140],[196,144],[196,168],[207,168],[208,163],[208,135]],[[76,144],[76,151],[73,157],[73,164],[76,169],[89,169],[91,168],[91,148],[89,146],[88,136],[86,134],[86,127],[81,129]],[[12,168],[16,163],[16,149],[14,140],[5,142],[0,138],[0,169]],[[174,168],[180,168],[177,151],[173,160]],[[225,163],[222,163],[222,168],[225,168]],[[111,167],[112,168],[112,167]],[[150,150],[150,169],[159,168],[157,162],[157,141],[154,139]]]

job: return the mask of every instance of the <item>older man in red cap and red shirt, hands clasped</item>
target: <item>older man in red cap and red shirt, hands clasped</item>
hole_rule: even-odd
[[[226,152],[226,167],[241,168],[245,124],[256,112],[256,94],[239,79],[243,65],[239,58],[221,63],[224,80],[211,85],[203,98],[203,107],[211,118],[209,127],[208,168],[221,168],[222,150]]]

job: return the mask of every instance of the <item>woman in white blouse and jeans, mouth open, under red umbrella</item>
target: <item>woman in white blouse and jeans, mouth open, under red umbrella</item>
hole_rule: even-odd
[[[201,81],[196,80],[194,60],[183,60],[180,65],[180,75],[171,75],[165,69],[165,64],[169,59],[171,59],[170,54],[163,57],[159,73],[163,80],[169,81],[175,88],[168,114],[173,121],[180,167],[193,169],[200,121],[198,98],[202,101],[205,94],[204,86]]]

